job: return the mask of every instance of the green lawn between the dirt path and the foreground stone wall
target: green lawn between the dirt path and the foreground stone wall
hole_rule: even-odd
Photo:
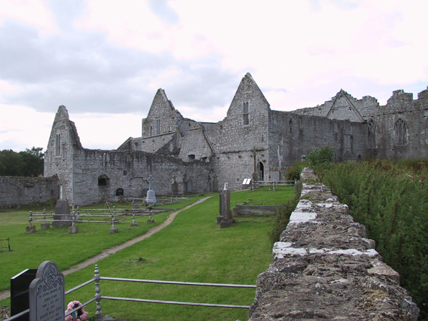
[[[280,205],[292,198],[293,188],[256,190],[232,193],[231,205],[253,199],[248,205]],[[119,251],[98,262],[102,276],[128,277],[151,280],[185,282],[218,282],[255,284],[257,275],[266,270],[272,260],[267,233],[274,218],[238,218],[232,227],[221,229],[216,224],[218,195],[180,213],[173,223],[151,238]],[[156,217],[157,218],[157,217]],[[25,225],[21,225],[25,228]],[[118,226],[121,230],[121,225]],[[52,229],[53,230],[53,229]],[[39,233],[39,232],[38,232]],[[35,235],[37,235],[36,233]],[[42,234],[42,233],[39,233]],[[122,234],[122,233],[118,233]],[[128,233],[123,233],[128,234]],[[49,234],[44,235],[44,239]],[[65,232],[63,235],[67,235]],[[32,236],[25,235],[24,236]],[[78,240],[81,235],[71,235]],[[104,238],[112,235],[103,234]],[[116,235],[115,235],[116,236]],[[1,237],[1,236],[0,236]],[[82,239],[82,238],[81,238]],[[74,240],[71,240],[74,241]],[[85,241],[83,241],[84,243]],[[70,245],[70,240],[68,240]],[[86,245],[91,244],[86,241]],[[71,248],[85,248],[74,244]],[[86,246],[88,247],[88,246]],[[4,253],[1,253],[2,256]],[[64,253],[66,260],[70,253]],[[53,260],[44,258],[43,260]],[[43,261],[41,260],[41,261]],[[54,260],[58,265],[63,264]],[[76,263],[74,263],[76,264]],[[32,263],[31,267],[34,267]],[[38,266],[38,265],[36,265]],[[28,265],[27,265],[28,267]],[[66,276],[66,289],[93,277],[94,267],[87,267]],[[21,269],[22,270],[22,269]],[[61,267],[60,267],[60,270]],[[223,287],[188,287],[183,285],[153,285],[128,282],[101,281],[101,292],[106,296],[136,297],[151,300],[208,302],[233,305],[251,305],[254,289]],[[94,285],[88,285],[67,295],[66,302],[84,302],[94,295]],[[0,305],[7,305],[7,300]],[[248,310],[213,307],[188,307],[153,303],[103,300],[103,312],[122,320],[246,320]],[[93,315],[95,305],[86,309]]]

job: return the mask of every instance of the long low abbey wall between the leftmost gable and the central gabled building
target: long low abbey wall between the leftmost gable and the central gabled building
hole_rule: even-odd
[[[157,195],[208,191],[208,163],[185,163],[178,158],[144,152],[119,152],[81,149],[74,155],[73,202],[76,205],[97,203],[116,197],[118,188],[123,195],[146,197],[148,177],[153,177]],[[106,185],[98,185],[98,178],[106,178]]]

